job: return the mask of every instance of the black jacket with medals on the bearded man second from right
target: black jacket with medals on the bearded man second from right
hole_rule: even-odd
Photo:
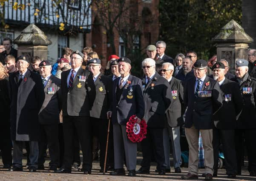
[[[239,84],[225,78],[221,84],[223,94],[223,106],[217,113],[218,120],[214,125],[218,129],[235,129],[237,118],[242,111],[242,95],[239,90]],[[231,96],[230,96],[231,95]]]

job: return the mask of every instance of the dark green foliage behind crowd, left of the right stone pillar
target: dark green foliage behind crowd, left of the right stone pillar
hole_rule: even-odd
[[[166,54],[194,50],[208,60],[216,54],[211,39],[231,19],[242,24],[242,0],[160,0],[160,39]]]

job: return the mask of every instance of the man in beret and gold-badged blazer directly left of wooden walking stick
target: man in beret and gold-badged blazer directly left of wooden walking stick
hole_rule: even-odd
[[[91,74],[88,77],[89,100],[92,105],[90,110],[90,121],[93,135],[98,137],[100,143],[100,172],[104,171],[104,160],[106,153],[106,136],[108,129],[107,111],[112,104],[112,79],[102,75],[101,60],[92,58],[87,62]],[[107,157],[108,158],[108,157]],[[108,168],[108,162],[106,162]]]

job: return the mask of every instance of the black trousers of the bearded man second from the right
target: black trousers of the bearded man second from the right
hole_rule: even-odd
[[[218,172],[219,146],[222,143],[227,175],[236,175],[235,130],[213,128],[214,173]]]

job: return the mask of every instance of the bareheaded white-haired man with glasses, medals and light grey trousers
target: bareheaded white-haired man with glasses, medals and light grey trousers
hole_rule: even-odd
[[[180,145],[180,126],[183,120],[183,86],[181,81],[173,77],[173,64],[165,62],[161,67],[161,76],[166,78],[170,84],[172,103],[167,110],[166,128],[164,128],[164,156],[168,171],[170,170],[170,141],[173,148],[173,167],[175,173],[181,173],[181,145]]]

